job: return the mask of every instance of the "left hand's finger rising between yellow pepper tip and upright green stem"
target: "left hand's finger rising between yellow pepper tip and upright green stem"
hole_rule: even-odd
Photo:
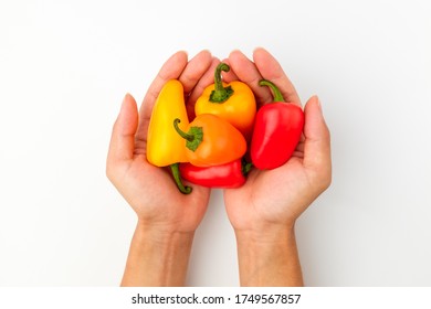
[[[210,67],[211,63],[212,56],[209,51],[202,51],[189,61],[179,77],[179,81],[185,87],[185,94],[189,94],[196,87],[199,79]]]

